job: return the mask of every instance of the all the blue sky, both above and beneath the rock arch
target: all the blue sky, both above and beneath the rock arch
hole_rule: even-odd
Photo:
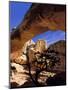
[[[13,27],[17,27],[21,23],[31,5],[32,3],[10,1],[10,31]],[[38,39],[46,40],[49,46],[50,44],[53,44],[59,40],[65,40],[65,32],[61,30],[49,30],[48,32],[42,33],[34,37],[33,41],[36,42]]]

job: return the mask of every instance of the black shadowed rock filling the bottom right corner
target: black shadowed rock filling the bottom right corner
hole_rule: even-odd
[[[65,72],[61,72],[54,77],[49,77],[46,81],[47,86],[59,86],[66,85],[66,74]]]

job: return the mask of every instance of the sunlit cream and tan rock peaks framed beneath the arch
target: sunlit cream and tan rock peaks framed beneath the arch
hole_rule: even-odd
[[[35,53],[39,52],[41,54],[44,50],[47,50],[47,45],[44,40],[38,40],[36,44],[32,40],[29,40],[22,48],[22,55],[15,61],[20,64],[25,64],[27,62],[27,53],[29,56],[29,61],[33,61],[35,58]]]

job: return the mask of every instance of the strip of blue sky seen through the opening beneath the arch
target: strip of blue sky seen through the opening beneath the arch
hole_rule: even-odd
[[[49,30],[47,32],[37,35],[32,40],[36,42],[38,39],[45,40],[47,42],[47,46],[49,46],[57,41],[65,40],[65,32],[61,30]]]

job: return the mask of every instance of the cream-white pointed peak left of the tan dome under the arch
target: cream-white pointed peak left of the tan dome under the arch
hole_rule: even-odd
[[[34,55],[34,46],[35,46],[35,43],[32,40],[29,40],[24,44],[21,57],[25,62],[27,62],[27,53],[28,53],[29,59],[33,60],[32,58]]]

